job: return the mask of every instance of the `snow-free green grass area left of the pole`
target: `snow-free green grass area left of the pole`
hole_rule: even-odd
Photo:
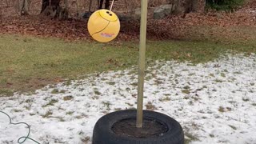
[[[1,35],[0,95],[95,71],[134,65],[137,49],[89,42]]]

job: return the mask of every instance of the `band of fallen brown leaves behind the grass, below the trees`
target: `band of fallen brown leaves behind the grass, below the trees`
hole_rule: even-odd
[[[236,31],[226,29],[232,26],[256,26],[256,2],[250,3],[235,13],[209,12],[207,14],[190,13],[185,18],[182,15],[170,15],[161,20],[149,18],[147,38],[150,40],[205,38],[206,36],[230,37]],[[63,38],[66,40],[91,40],[87,31],[87,20],[69,19],[59,21],[41,15],[26,17],[5,17],[0,25],[0,33],[31,34],[42,37]],[[206,31],[203,27],[208,26]],[[121,22],[118,41],[138,41],[140,31],[139,21]],[[213,27],[217,27],[214,30]],[[240,34],[242,35],[242,34]],[[246,35],[243,36],[246,38]]]

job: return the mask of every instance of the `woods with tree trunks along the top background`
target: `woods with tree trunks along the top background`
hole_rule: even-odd
[[[66,19],[86,11],[109,9],[110,0],[0,0],[0,6],[13,6],[19,15],[45,14],[53,18]],[[150,7],[173,4],[175,14],[204,12],[206,9],[235,10],[244,0],[149,0]],[[32,3],[32,4],[31,4]],[[116,0],[114,10],[133,11],[140,6],[140,0]],[[90,8],[91,9],[90,9]],[[74,14],[75,13],[75,14]]]

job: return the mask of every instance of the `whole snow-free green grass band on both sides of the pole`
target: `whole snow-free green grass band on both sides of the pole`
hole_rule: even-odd
[[[146,60],[148,63],[157,59],[209,62],[227,50],[255,53],[256,47],[254,42],[147,42]],[[0,35],[0,51],[0,96],[138,64],[138,42],[102,44]]]

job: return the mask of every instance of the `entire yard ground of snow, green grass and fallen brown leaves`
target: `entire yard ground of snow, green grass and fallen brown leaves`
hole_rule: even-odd
[[[144,108],[177,119],[186,144],[256,144],[255,4],[149,20]],[[98,118],[136,108],[139,22],[108,44],[77,19],[5,17],[0,33],[0,110],[30,138],[91,143]],[[26,134],[0,113],[1,144]]]

